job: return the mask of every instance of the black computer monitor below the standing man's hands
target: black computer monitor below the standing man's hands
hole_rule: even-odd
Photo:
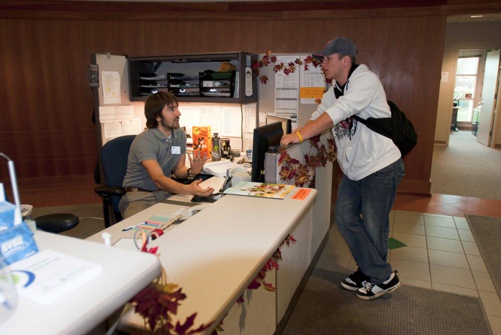
[[[280,145],[282,136],[284,136],[282,122],[274,122],[254,129],[251,181],[265,182],[265,154],[268,152],[268,147]]]

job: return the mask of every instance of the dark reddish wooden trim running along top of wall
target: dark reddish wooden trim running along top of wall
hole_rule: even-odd
[[[4,0],[0,4],[0,18],[110,21],[116,20],[117,14],[120,21],[228,21],[408,17],[472,12],[501,12],[501,4],[493,0],[478,4],[456,4],[451,0],[228,3]]]

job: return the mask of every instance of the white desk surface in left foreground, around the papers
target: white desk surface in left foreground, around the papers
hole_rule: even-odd
[[[15,314],[1,332],[5,334],[83,334],[156,278],[158,258],[90,241],[37,231],[40,250],[54,250],[103,265],[102,272],[50,305],[18,296]]]

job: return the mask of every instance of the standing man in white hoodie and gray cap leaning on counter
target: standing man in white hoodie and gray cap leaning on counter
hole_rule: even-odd
[[[331,129],[343,177],[336,202],[336,223],[359,268],[341,286],[371,300],[400,286],[386,261],[389,213],[404,175],[400,151],[393,141],[352,116],[391,116],[379,78],[366,65],[355,64],[357,47],[348,38],[329,41],[314,54],[333,85],[305,127],[285,135],[281,144],[299,143]]]

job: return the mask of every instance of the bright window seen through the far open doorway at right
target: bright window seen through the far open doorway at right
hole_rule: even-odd
[[[471,122],[473,100],[475,99],[478,62],[480,57],[459,57],[457,59],[454,96],[458,96],[457,121]]]

